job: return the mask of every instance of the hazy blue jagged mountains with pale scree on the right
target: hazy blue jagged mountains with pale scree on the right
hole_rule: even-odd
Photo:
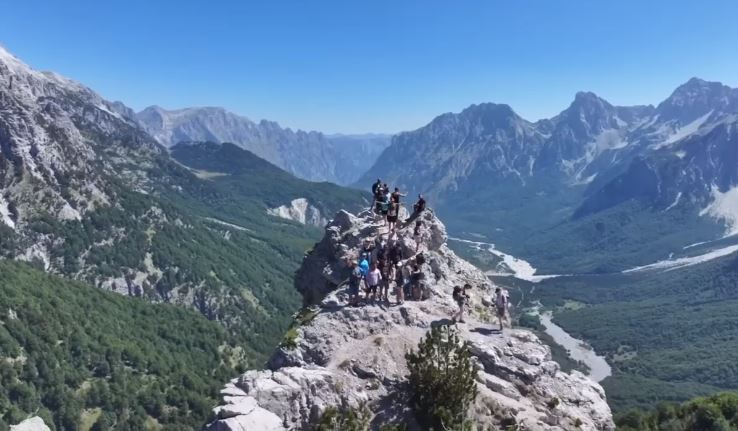
[[[356,186],[425,193],[455,234],[549,271],[623,269],[735,232],[737,122],[738,90],[697,78],[655,107],[582,92],[536,122],[472,105],[395,136]]]

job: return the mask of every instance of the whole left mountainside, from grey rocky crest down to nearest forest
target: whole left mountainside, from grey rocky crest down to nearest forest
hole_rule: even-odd
[[[207,376],[263,362],[300,304],[292,274],[321,229],[271,210],[368,204],[235,145],[167,149],[124,108],[0,48],[0,425],[39,409],[57,429],[78,429],[84,409],[120,429],[203,423]],[[106,312],[87,319],[91,286]]]

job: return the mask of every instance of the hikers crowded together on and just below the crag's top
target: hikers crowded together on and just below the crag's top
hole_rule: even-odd
[[[405,299],[416,301],[425,299],[427,297],[423,273],[425,256],[420,251],[423,242],[423,222],[417,220],[426,209],[425,199],[422,195],[418,195],[418,201],[413,205],[413,213],[408,219],[400,222],[400,199],[407,195],[400,193],[397,187],[394,192],[389,193],[387,184],[383,184],[380,180],[372,185],[372,193],[374,194],[372,209],[378,218],[384,220],[383,226],[387,227],[387,236],[384,238],[380,233],[374,241],[365,239],[357,258],[352,260],[349,305],[359,305],[362,287],[366,302],[389,303],[392,285],[394,285],[392,294],[398,305],[404,303]],[[413,221],[415,221],[413,228],[415,254],[406,259],[398,234]]]

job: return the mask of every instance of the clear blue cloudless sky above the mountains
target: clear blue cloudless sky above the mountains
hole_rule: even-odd
[[[9,0],[0,43],[137,110],[397,132],[479,102],[536,120],[579,90],[656,104],[692,76],[736,87],[737,23],[735,0]]]

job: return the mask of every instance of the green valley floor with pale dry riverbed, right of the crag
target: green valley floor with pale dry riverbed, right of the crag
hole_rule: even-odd
[[[516,277],[499,261],[491,277],[510,291],[522,325],[551,335],[568,353],[557,357],[553,345],[562,366],[574,361],[574,368],[604,378],[608,403],[622,413],[738,390],[732,377],[738,257],[731,240],[617,273]],[[465,248],[459,253],[471,259],[490,254],[468,243],[454,248]]]

